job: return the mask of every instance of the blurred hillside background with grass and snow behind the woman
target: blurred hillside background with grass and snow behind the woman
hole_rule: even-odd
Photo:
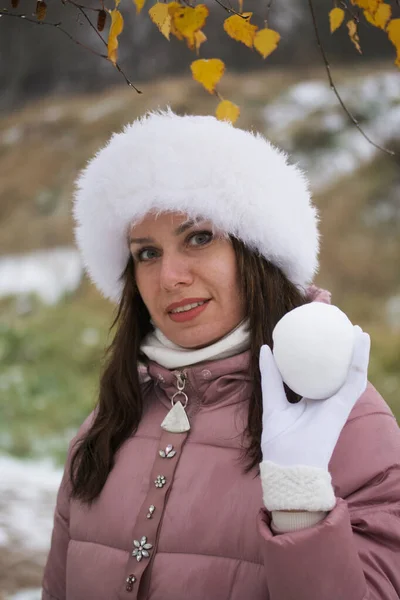
[[[316,283],[370,333],[370,380],[400,422],[400,72],[382,31],[360,27],[362,56],[345,27],[331,35],[330,8],[318,2],[316,16],[338,91],[397,157],[371,145],[340,107],[307,3],[272,5],[282,41],[266,61],[225,34],[227,15],[213,3],[201,56],[225,61],[219,91],[240,106],[237,126],[262,131],[308,171],[322,217]],[[21,0],[14,12],[34,9]],[[214,114],[217,105],[190,78],[194,56],[182,42],[168,42],[146,11],[124,0],[120,9],[119,63],[140,95],[56,28],[0,19],[0,599],[40,598],[67,444],[96,401],[115,314],[74,247],[74,178],[146,110]],[[61,2],[46,20],[103,51]]]

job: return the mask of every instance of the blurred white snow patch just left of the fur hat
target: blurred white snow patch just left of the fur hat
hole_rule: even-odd
[[[51,248],[0,258],[0,297],[36,294],[55,304],[81,282],[83,265],[75,248]]]

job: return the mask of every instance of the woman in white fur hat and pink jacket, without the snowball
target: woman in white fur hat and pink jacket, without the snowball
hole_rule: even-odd
[[[74,214],[117,328],[43,598],[400,598],[400,433],[367,385],[367,334],[322,402],[269,350],[324,300],[304,174],[260,135],[153,113],[89,163]]]

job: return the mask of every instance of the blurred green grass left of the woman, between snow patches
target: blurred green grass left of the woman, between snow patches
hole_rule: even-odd
[[[6,304],[6,306],[4,306]],[[36,304],[18,317],[3,302],[0,322],[0,447],[62,462],[71,434],[92,410],[112,310],[82,294]]]

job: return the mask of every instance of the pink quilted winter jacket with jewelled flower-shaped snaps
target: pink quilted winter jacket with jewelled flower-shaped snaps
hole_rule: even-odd
[[[400,430],[391,410],[369,385],[329,465],[336,506],[313,527],[275,535],[256,470],[246,474],[241,461],[249,359],[247,351],[186,368],[191,430],[178,434],[160,427],[176,376],[149,362],[142,422],[90,510],[70,500],[64,474],[43,600],[400,598]],[[139,545],[149,555],[140,562]]]

